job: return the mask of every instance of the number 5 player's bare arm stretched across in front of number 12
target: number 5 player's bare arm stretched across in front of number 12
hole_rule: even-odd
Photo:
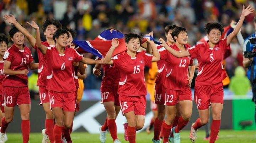
[[[179,52],[171,48],[169,45],[167,45],[162,38],[160,38],[159,41],[162,42],[161,46],[163,46],[168,52],[170,52],[172,55],[174,55],[177,58],[190,56],[190,53],[188,52],[188,50]]]

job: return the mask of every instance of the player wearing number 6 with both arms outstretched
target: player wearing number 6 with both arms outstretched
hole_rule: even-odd
[[[36,29],[36,46],[48,62],[46,89],[49,90],[50,108],[56,122],[53,129],[54,142],[60,143],[63,125],[70,128],[74,119],[76,86],[73,62],[102,64],[102,61],[84,58],[73,48],[67,48],[69,33],[64,29],[56,30],[53,35],[56,47],[42,45],[38,25],[32,23],[30,25]]]

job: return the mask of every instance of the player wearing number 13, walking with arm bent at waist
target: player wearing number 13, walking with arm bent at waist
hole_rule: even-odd
[[[4,90],[2,101],[5,106],[5,117],[2,118],[0,143],[4,143],[5,131],[14,116],[14,107],[18,105],[21,112],[21,131],[23,143],[29,141],[30,135],[30,94],[28,91],[28,68],[37,69],[38,63],[33,63],[30,49],[23,45],[24,35],[12,27],[9,35],[14,44],[9,47],[4,55],[4,74],[8,75],[3,80]]]

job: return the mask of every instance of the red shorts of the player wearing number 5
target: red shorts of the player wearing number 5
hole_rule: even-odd
[[[194,101],[197,104],[197,109],[208,109],[211,103],[223,104],[223,83],[213,85],[195,86]]]

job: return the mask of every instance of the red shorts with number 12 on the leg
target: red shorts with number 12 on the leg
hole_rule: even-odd
[[[165,105],[167,106],[174,106],[178,104],[178,101],[192,101],[192,91],[190,88],[186,88],[184,90],[171,90],[166,88],[165,99]]]

